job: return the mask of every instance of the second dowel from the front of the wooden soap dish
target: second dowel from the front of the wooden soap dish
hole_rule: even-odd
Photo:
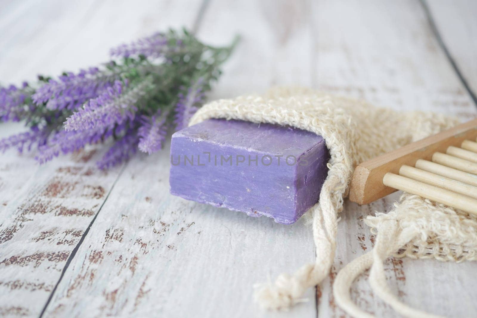
[[[467,185],[463,182],[446,178],[438,174],[433,174],[408,165],[403,165],[401,169],[399,169],[399,174],[406,178],[424,182],[428,185],[434,185],[442,189],[460,193],[462,195],[471,196],[477,199],[476,186]]]

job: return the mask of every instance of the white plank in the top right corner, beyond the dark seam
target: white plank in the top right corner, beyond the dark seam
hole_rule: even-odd
[[[477,2],[425,1],[447,50],[477,95]]]

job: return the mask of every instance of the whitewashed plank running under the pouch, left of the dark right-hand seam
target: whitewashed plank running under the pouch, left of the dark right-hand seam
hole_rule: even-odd
[[[462,120],[476,116],[474,103],[446,60],[418,1],[313,1],[311,14],[316,30],[314,86],[394,109],[456,114]],[[370,205],[345,204],[335,263],[317,293],[318,317],[346,317],[332,296],[333,279],[344,265],[373,247],[375,237],[363,217],[387,211],[398,197],[395,193]],[[475,290],[477,281],[468,273],[476,269],[474,262],[408,258],[385,264],[390,288],[401,300],[453,317],[477,310],[472,301],[477,294],[463,293]],[[398,316],[373,295],[366,275],[353,284],[351,294],[376,317]]]

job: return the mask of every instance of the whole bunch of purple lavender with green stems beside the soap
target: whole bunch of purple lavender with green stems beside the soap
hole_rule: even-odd
[[[232,52],[173,30],[111,50],[120,57],[35,85],[0,87],[0,120],[23,120],[30,131],[0,140],[0,151],[37,150],[40,163],[109,138],[115,144],[98,162],[102,169],[139,149],[158,151],[169,127],[185,127],[205,100],[219,67]]]

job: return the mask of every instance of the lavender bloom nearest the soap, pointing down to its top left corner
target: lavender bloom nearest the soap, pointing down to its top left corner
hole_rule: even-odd
[[[186,95],[179,93],[179,102],[176,104],[176,114],[174,116],[176,131],[187,127],[192,115],[197,112],[204,102],[205,95],[202,82],[202,79],[199,79],[192,84],[189,89],[187,89]]]

